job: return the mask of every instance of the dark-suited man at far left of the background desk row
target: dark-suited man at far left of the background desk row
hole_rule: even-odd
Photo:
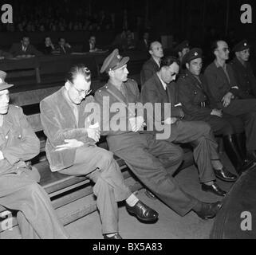
[[[14,57],[40,57],[42,53],[38,51],[33,45],[30,45],[30,37],[22,37],[21,43],[12,45],[10,53]]]

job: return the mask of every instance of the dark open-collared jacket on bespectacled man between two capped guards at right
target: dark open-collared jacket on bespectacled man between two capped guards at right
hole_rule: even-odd
[[[211,98],[218,104],[218,108],[223,108],[221,101],[227,92],[231,92],[234,96],[239,95],[239,89],[234,88],[238,87],[234,78],[234,71],[229,64],[226,64],[226,72],[229,78],[222,67],[217,67],[215,61],[208,65],[204,72],[207,78],[207,91],[211,93]]]

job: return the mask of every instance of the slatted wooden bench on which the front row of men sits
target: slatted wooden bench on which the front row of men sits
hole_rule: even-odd
[[[11,104],[17,104],[22,106],[23,111],[27,115],[27,119],[30,122],[33,130],[36,132],[38,138],[41,141],[41,153],[35,159],[33,159],[33,166],[37,167],[41,174],[41,186],[45,188],[45,191],[49,194],[53,202],[53,208],[57,210],[59,218],[64,225],[76,221],[79,218],[85,217],[87,214],[91,214],[96,210],[96,200],[93,195],[93,183],[85,177],[75,177],[69,175],[61,175],[57,172],[51,172],[49,169],[49,163],[45,159],[45,135],[42,132],[39,102],[49,96],[53,92],[57,91],[60,87],[44,88],[33,90],[30,92],[16,92],[10,95]],[[108,149],[105,139],[101,139],[99,143],[100,147]],[[140,182],[128,171],[128,167],[125,165],[122,159],[116,157],[116,161],[119,163],[121,171],[123,172],[125,182],[130,186],[132,191],[136,191],[142,188]],[[190,150],[186,151],[183,165],[180,169],[190,166],[193,163],[193,157]],[[6,212],[6,208],[0,206],[0,216],[3,212]],[[13,226],[15,233],[18,234],[19,229],[15,218],[13,218]],[[2,218],[5,220],[5,218]],[[0,237],[4,237],[2,224],[0,222]]]

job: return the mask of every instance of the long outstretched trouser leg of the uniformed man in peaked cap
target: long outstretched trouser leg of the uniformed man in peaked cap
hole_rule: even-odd
[[[138,136],[136,136],[137,139]],[[144,139],[140,137],[140,139]],[[133,141],[130,146],[124,147],[119,151],[114,151],[114,153],[121,159],[124,159],[128,167],[136,175],[149,190],[152,190],[154,194],[160,200],[175,210],[177,214],[185,215],[187,214],[193,206],[198,202],[195,198],[191,198],[190,195],[186,194],[179,187],[175,179],[171,177],[163,167],[160,159],[157,159],[152,153],[148,151],[148,146],[144,144],[136,143]],[[110,146],[111,147],[111,146]],[[170,146],[170,143],[165,142],[166,151],[174,150],[175,147]],[[175,153],[171,152],[171,155]],[[176,153],[180,155],[180,151]],[[170,158],[171,160],[171,158]],[[174,159],[179,162],[179,159]],[[175,167],[177,167],[176,164]],[[174,171],[171,171],[174,172]]]

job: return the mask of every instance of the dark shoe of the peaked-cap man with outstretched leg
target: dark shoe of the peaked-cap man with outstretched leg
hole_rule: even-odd
[[[208,218],[215,218],[219,209],[223,206],[222,202],[202,202],[200,210],[195,210],[195,214],[197,214],[200,218],[207,220]]]

